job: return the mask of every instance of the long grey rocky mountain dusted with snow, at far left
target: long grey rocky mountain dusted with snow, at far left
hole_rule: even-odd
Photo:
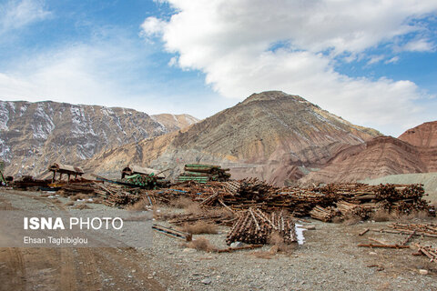
[[[196,120],[189,115],[175,116]],[[51,101],[0,101],[0,159],[6,175],[38,176],[49,163],[78,164],[102,150],[178,129],[143,112]]]

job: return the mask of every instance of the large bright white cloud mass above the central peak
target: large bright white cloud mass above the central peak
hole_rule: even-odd
[[[340,75],[334,57],[353,61],[367,49],[422,32],[411,20],[435,13],[434,0],[168,3],[175,8],[168,23],[153,20],[166,49],[178,55],[182,69],[205,73],[221,95],[242,98],[282,90],[389,132],[420,120],[417,85]],[[275,44],[286,45],[271,50]]]

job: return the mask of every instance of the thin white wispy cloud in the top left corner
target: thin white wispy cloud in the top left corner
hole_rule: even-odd
[[[0,5],[0,34],[44,20],[49,15],[43,1],[8,1]]]

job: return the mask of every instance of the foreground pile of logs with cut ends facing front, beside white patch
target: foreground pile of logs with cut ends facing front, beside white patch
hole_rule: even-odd
[[[239,218],[226,239],[228,245],[233,242],[268,244],[274,232],[278,233],[286,244],[297,242],[295,224],[282,212],[267,214],[259,209],[249,208],[237,215]]]

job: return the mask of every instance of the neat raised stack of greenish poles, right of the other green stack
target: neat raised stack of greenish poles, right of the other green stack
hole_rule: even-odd
[[[229,169],[222,169],[221,166],[188,164],[184,167],[184,172],[178,177],[178,182],[196,181],[207,183],[209,181],[228,181]]]

